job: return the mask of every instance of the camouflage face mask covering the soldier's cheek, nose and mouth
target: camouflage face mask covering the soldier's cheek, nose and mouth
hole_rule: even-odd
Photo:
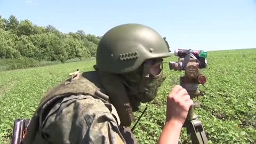
[[[132,97],[133,108],[138,107],[139,103],[152,101],[157,94],[158,87],[163,83],[165,76],[160,69],[158,75],[154,76],[149,73],[152,63],[146,63],[133,73],[125,74],[127,84],[127,93]]]

